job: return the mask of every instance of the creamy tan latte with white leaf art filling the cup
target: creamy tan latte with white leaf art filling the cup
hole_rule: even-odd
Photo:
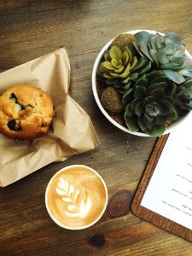
[[[87,166],[68,166],[57,172],[46,190],[46,207],[56,224],[79,230],[102,216],[108,192],[102,178]]]

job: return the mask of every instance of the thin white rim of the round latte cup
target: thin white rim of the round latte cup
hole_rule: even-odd
[[[87,224],[87,225],[84,225],[83,227],[70,227],[70,226],[67,226],[67,225],[64,225],[64,224],[61,224],[57,219],[55,219],[51,212],[49,211],[49,207],[48,207],[48,191],[49,191],[49,186],[50,184],[52,183],[52,181],[54,180],[54,178],[61,172],[65,172],[67,171],[67,169],[69,168],[72,168],[72,167],[84,167],[85,169],[88,169],[90,170],[90,172],[94,172],[96,174],[96,177],[99,177],[100,180],[102,181],[102,184],[103,184],[103,187],[105,189],[105,193],[106,193],[106,201],[105,201],[105,205],[102,209],[102,212],[100,213],[100,215],[93,221],[91,222],[90,224]],[[45,190],[45,196],[44,196],[44,200],[45,200],[45,207],[47,209],[47,212],[49,213],[49,217],[52,218],[52,220],[55,222],[55,224],[57,224],[58,226],[60,226],[61,228],[63,229],[66,229],[66,230],[84,230],[84,229],[87,229],[89,228],[90,226],[96,224],[96,222],[102,218],[102,215],[103,213],[106,211],[106,208],[108,206],[108,188],[107,188],[107,185],[106,183],[104,182],[102,176],[96,172],[94,169],[92,169],[90,166],[84,166],[84,165],[70,165],[70,166],[65,166],[63,168],[61,168],[59,171],[55,172],[55,174],[49,179],[49,183],[47,184],[47,187],[46,187],[46,190]]]

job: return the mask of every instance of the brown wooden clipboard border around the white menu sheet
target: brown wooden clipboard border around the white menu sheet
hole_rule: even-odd
[[[151,224],[155,224],[156,226],[167,230],[177,236],[181,236],[188,241],[192,241],[192,230],[189,230],[182,225],[177,224],[174,221],[141,206],[143,195],[148,187],[148,183],[154,173],[155,166],[157,165],[160,154],[163,151],[168,137],[168,135],[162,136],[155,143],[154,150],[150,156],[150,159],[148,160],[148,165],[143,172],[142,180],[138,185],[137,192],[134,195],[134,199],[131,203],[131,211],[137,217],[143,218]]]

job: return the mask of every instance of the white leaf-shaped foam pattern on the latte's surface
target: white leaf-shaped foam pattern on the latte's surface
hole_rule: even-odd
[[[63,177],[60,177],[56,192],[58,195],[62,195],[61,200],[67,204],[67,210],[64,214],[68,217],[84,219],[87,213],[90,212],[92,204],[87,192],[75,189],[73,184],[70,185]],[[80,198],[80,194],[84,196]]]

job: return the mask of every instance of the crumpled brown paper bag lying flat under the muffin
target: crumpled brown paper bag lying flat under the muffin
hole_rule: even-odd
[[[0,81],[0,94],[15,84],[32,84],[48,92],[55,107],[55,117],[44,137],[14,141],[0,134],[0,186],[98,146],[90,117],[68,94],[70,64],[66,49],[0,73]]]

